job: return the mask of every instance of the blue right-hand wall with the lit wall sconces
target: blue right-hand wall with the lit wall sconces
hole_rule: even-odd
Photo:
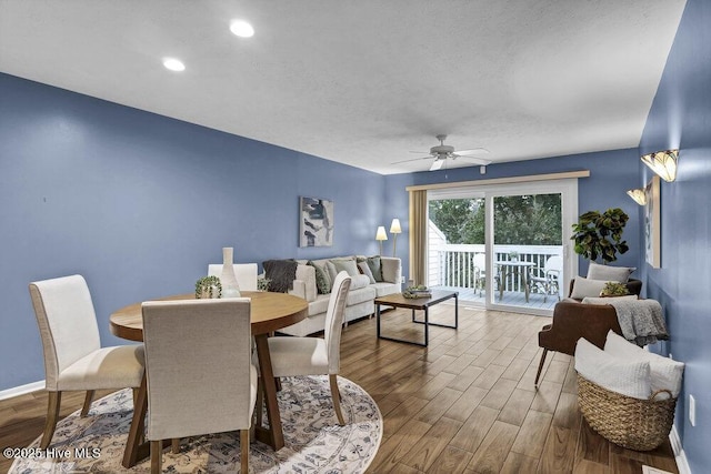
[[[661,269],[643,266],[647,295],[662,303],[687,364],[675,425],[694,473],[711,466],[711,2],[689,0],[652,104],[640,152],[679,148],[679,174],[661,183]],[[640,167],[640,182],[651,174]],[[697,425],[689,423],[689,395]]]

